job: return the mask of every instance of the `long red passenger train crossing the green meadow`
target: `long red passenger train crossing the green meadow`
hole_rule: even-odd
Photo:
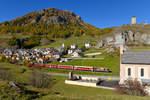
[[[90,71],[90,72],[111,72],[108,68],[105,68],[105,67],[92,67],[92,66],[50,65],[50,64],[30,63],[30,67],[32,67],[32,66],[56,68],[56,69],[78,70],[78,71]]]

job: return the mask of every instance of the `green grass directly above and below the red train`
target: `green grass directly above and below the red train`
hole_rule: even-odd
[[[118,60],[113,59],[113,60]],[[72,62],[63,62],[63,63],[51,63],[51,64],[60,64],[60,65],[81,65],[85,66],[99,66],[99,67],[107,67],[110,68],[112,73],[94,73],[94,72],[84,72],[84,71],[74,71],[76,74],[88,74],[88,75],[107,75],[107,76],[119,76],[119,63],[114,63],[112,59],[108,59],[109,64],[105,63],[106,61],[99,61],[99,60],[73,60]],[[117,61],[116,61],[117,62]],[[92,64],[93,63],[93,64]],[[46,69],[50,72],[59,72],[59,73],[69,73],[70,70],[59,70],[59,69]]]

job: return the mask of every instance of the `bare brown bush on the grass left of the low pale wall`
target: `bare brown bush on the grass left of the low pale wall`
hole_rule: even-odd
[[[45,73],[33,71],[29,84],[36,88],[48,88],[51,83],[51,77]]]

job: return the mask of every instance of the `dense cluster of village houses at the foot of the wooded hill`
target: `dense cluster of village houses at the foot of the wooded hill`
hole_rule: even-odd
[[[1,50],[6,58],[11,60],[24,61],[30,60],[32,62],[49,62],[57,61],[62,56],[64,49],[57,50],[55,48],[45,48],[45,49],[4,49]],[[41,58],[41,59],[40,59]],[[43,59],[46,58],[46,59]]]

